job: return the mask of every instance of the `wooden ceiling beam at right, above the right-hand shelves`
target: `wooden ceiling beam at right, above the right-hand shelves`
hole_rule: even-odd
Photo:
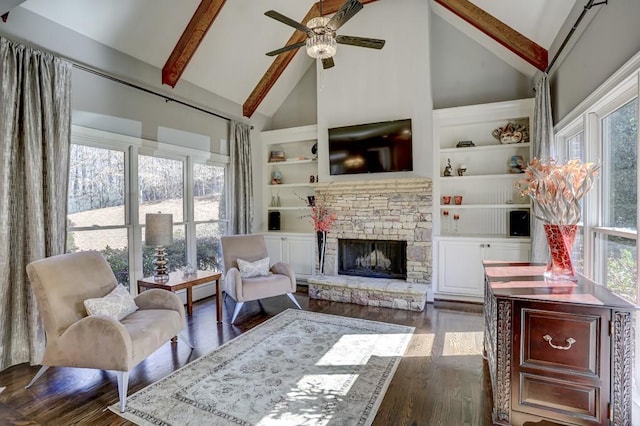
[[[537,69],[544,71],[547,68],[548,52],[544,47],[520,34],[470,1],[435,0],[435,2],[464,19]]]

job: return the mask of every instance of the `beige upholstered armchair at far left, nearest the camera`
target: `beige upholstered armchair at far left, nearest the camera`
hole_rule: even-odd
[[[185,327],[180,298],[165,290],[138,295],[120,320],[88,315],[87,299],[104,300],[116,289],[116,277],[97,251],[62,254],[27,265],[46,334],[42,368],[27,388],[50,366],[115,370],[120,411],[127,400],[129,371]],[[126,290],[125,290],[126,291]]]

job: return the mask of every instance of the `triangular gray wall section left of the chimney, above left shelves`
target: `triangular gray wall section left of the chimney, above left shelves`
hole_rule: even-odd
[[[296,87],[271,118],[271,129],[307,126],[318,122],[316,64],[311,63]]]

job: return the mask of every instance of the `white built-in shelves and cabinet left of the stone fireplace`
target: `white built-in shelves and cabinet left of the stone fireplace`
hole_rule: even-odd
[[[308,197],[315,196],[318,176],[317,126],[301,126],[261,133],[263,145],[263,223],[271,262],[289,263],[297,278],[314,273],[316,239]],[[285,161],[272,161],[272,152]],[[274,173],[281,176],[273,182]],[[280,229],[269,230],[269,214],[280,215]]]

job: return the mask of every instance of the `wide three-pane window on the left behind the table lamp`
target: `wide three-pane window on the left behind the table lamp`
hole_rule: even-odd
[[[186,264],[219,269],[219,240],[228,229],[226,163],[195,154],[149,150],[128,137],[96,141],[91,131],[74,127],[67,251],[102,252],[118,282],[129,287],[152,274],[155,248],[144,243],[145,215],[171,213],[170,270]]]

